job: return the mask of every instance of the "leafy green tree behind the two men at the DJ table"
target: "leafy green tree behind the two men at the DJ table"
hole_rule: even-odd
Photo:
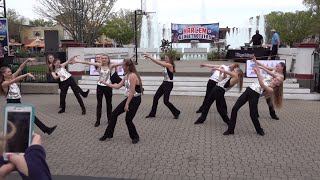
[[[312,13],[309,11],[271,12],[266,15],[267,41],[270,42],[271,29],[276,29],[282,43],[292,46],[311,34]]]

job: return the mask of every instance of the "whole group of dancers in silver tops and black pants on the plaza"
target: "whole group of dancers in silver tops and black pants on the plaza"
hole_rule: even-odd
[[[144,53],[146,59],[150,59],[155,64],[163,67],[163,83],[158,88],[153,98],[153,104],[150,113],[146,118],[154,118],[157,112],[158,101],[163,95],[164,104],[169,108],[173,114],[174,119],[178,119],[180,110],[178,110],[170,101],[170,93],[173,89],[173,78],[175,73],[174,58],[169,54],[165,55],[164,61],[154,59],[151,55]],[[244,93],[236,101],[231,111],[231,117],[228,116],[226,100],[224,98],[225,93],[235,85],[238,85],[239,92],[241,92],[243,85],[243,71],[239,68],[238,64],[232,64],[230,66],[225,65],[210,65],[203,64],[201,67],[211,68],[213,72],[211,78],[207,84],[206,95],[201,107],[196,111],[201,113],[201,116],[195,121],[194,124],[202,124],[206,120],[210,106],[216,101],[217,110],[222,117],[223,121],[228,125],[224,135],[234,134],[236,125],[238,110],[249,101],[250,117],[256,129],[256,132],[263,136],[264,131],[258,120],[258,101],[261,96],[266,97],[269,106],[270,115],[273,119],[279,118],[275,114],[274,106],[281,107],[283,98],[283,81],[286,78],[286,66],[284,63],[279,63],[275,69],[266,67],[259,63],[253,56],[252,60],[256,66],[254,71],[257,74],[258,81],[252,83],[246,88]],[[25,67],[28,62],[33,62],[35,59],[29,58],[22,63],[19,69],[12,73],[10,68],[2,67],[0,69],[0,94],[6,95],[7,103],[21,103],[21,92],[16,82],[26,77],[34,78],[30,73],[20,75],[19,73]],[[126,112],[125,122],[128,127],[129,135],[133,144],[139,142],[140,138],[136,127],[133,123],[133,119],[141,104],[141,95],[143,94],[143,85],[141,78],[135,68],[134,62],[131,59],[125,59],[122,63],[113,64],[110,58],[106,54],[99,54],[96,56],[96,62],[87,62],[84,60],[78,60],[77,56],[74,56],[64,63],[61,63],[59,59],[53,55],[48,55],[47,66],[48,72],[52,77],[59,81],[60,87],[60,111],[58,113],[64,113],[66,111],[66,95],[69,87],[71,87],[74,95],[76,96],[78,103],[82,110],[82,115],[86,114],[86,108],[82,101],[82,97],[87,97],[89,90],[83,91],[75,82],[72,75],[66,70],[68,64],[82,63],[93,65],[99,72],[99,80],[97,82],[96,98],[96,121],[94,126],[100,125],[102,114],[102,99],[103,95],[106,99],[107,119],[108,126],[104,135],[99,139],[104,141],[111,139],[114,134],[114,129],[117,123],[118,116]],[[122,66],[125,75],[121,79],[116,71],[116,67]],[[265,78],[260,74],[260,69],[266,71],[268,76]],[[112,88],[119,89],[125,88],[125,99],[112,111]],[[81,95],[81,96],[80,96]],[[38,118],[35,118],[35,124],[44,132],[51,134],[57,126],[47,127]]]

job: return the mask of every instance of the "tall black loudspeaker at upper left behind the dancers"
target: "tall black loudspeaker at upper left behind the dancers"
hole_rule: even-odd
[[[53,52],[59,51],[59,32],[58,30],[45,30],[44,43],[45,51]]]

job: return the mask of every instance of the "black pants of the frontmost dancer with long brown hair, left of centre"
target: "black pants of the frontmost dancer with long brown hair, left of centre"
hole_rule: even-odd
[[[113,138],[114,128],[116,127],[118,116],[124,113],[124,106],[126,105],[127,98],[123,100],[116,109],[111,114],[111,121],[108,124],[108,127],[104,133],[104,137]],[[129,135],[131,139],[138,139],[139,135],[137,133],[136,127],[133,124],[133,118],[136,115],[138,108],[141,104],[141,97],[133,97],[129,104],[129,111],[126,113],[126,124],[128,127]]]

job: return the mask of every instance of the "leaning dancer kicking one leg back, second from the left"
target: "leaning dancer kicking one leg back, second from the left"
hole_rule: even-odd
[[[82,115],[86,114],[86,108],[83,104],[83,101],[80,97],[79,89],[81,89],[78,84],[73,79],[72,75],[66,70],[66,66],[74,61],[76,56],[72,57],[71,59],[67,60],[66,62],[60,64],[59,59],[55,59],[53,61],[52,69],[54,72],[52,72],[52,76],[54,79],[60,79],[61,81],[61,92],[60,92],[60,103],[61,103],[61,109],[58,113],[64,113],[66,110],[66,96],[69,87],[71,87],[74,95],[76,96],[80,107],[82,109]],[[89,91],[88,91],[89,93]]]

